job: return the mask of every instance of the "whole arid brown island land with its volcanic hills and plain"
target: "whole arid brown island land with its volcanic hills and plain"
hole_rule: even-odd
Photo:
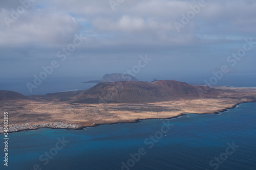
[[[88,90],[46,95],[23,96],[1,91],[0,111],[8,112],[9,125],[62,122],[81,128],[169,118],[182,113],[216,113],[240,103],[256,102],[256,88],[215,86],[203,90],[204,86],[177,81],[122,82],[116,88],[116,83],[104,82]]]

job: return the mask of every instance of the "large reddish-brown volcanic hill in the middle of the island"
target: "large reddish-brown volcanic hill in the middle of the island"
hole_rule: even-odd
[[[196,98],[202,86],[192,86],[175,80],[154,83],[141,81],[102,82],[73,97],[75,103],[146,103]],[[217,94],[210,89],[203,95]]]

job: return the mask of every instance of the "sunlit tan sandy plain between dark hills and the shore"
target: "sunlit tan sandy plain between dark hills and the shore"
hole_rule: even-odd
[[[62,122],[83,128],[100,124],[131,123],[148,118],[170,118],[183,113],[214,114],[240,103],[256,102],[256,88],[215,88],[229,89],[232,92],[207,98],[174,98],[166,102],[134,104],[81,104],[61,102],[58,96],[45,98],[45,95],[35,95],[29,96],[33,101],[2,101],[0,112],[8,112],[9,125]]]

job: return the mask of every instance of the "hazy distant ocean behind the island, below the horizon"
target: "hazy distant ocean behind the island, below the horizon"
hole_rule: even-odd
[[[162,77],[159,80],[177,80],[186,82],[189,84],[205,84],[204,80],[209,82],[209,79],[213,75],[184,75],[184,74],[169,74],[168,77]],[[256,74],[226,74],[222,79],[218,80],[216,85],[222,86],[233,86],[233,87],[256,87]],[[37,95],[47,94],[70,90],[83,90],[93,87],[94,83],[86,84],[82,83],[89,80],[99,80],[100,78],[91,77],[65,77],[65,78],[54,78],[49,77],[42,81],[37,88],[32,89],[32,93],[27,87],[27,83],[33,84],[32,78],[1,78],[0,77],[0,90],[10,90],[22,93],[23,95]],[[151,82],[153,77],[137,77],[140,81]]]

